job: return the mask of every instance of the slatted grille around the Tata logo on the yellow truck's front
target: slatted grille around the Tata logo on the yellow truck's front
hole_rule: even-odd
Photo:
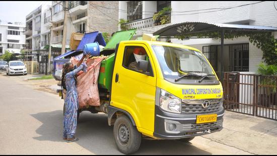
[[[210,106],[203,108],[202,103],[208,100]],[[220,110],[221,99],[201,99],[201,100],[182,100],[182,114],[199,114],[199,113],[211,113]]]

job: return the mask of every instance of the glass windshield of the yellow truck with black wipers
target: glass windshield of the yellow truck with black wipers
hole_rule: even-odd
[[[197,76],[201,78],[204,75],[214,74],[212,67],[199,51],[164,45],[152,45],[152,48],[164,78],[178,78],[186,74],[194,74],[196,78]]]

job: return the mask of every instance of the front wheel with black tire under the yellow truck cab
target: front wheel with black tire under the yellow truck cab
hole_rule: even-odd
[[[113,127],[113,137],[118,150],[124,154],[136,152],[142,142],[142,134],[124,115],[116,119]]]

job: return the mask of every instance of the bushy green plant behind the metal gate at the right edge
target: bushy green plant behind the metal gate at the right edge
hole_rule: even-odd
[[[277,76],[277,66],[276,65],[265,65],[265,64],[260,64],[258,67],[258,74],[263,75],[260,77],[260,85],[263,85],[265,89],[262,89],[259,94],[260,96],[260,105],[263,103],[266,103],[265,107],[269,107],[270,104],[276,105],[276,78],[272,78],[270,76]],[[263,91],[263,93],[262,93]]]

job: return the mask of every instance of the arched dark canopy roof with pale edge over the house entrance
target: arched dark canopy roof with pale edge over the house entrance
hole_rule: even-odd
[[[233,30],[233,31],[277,31],[276,27],[269,26],[252,26],[252,25],[239,25],[239,24],[217,24],[217,23],[204,23],[204,22],[184,22],[173,24],[162,28],[153,33],[153,35],[160,36],[177,36],[183,34],[192,34],[208,31],[218,30]]]

